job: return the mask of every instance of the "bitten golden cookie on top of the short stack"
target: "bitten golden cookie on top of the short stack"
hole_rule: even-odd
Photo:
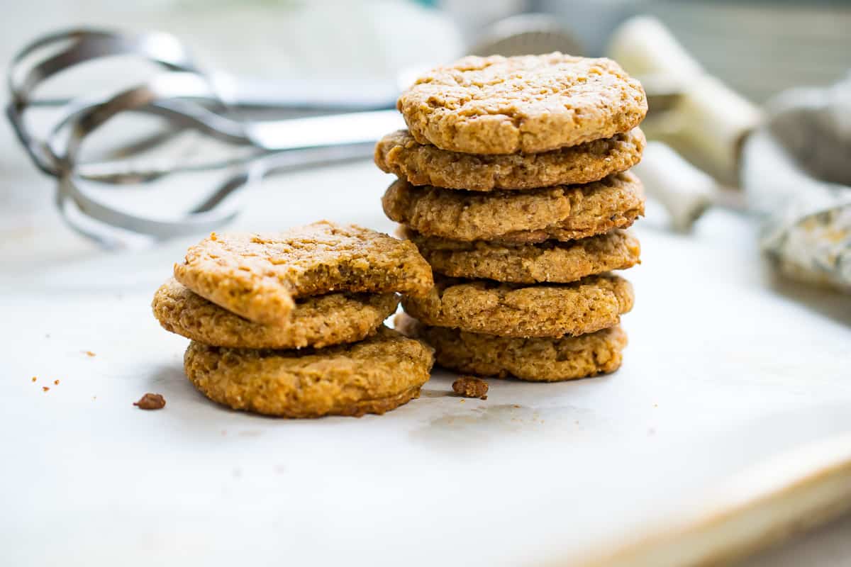
[[[191,247],[174,279],[248,320],[284,325],[295,298],[330,292],[431,289],[411,242],[355,224],[320,221],[271,235],[215,233]]]

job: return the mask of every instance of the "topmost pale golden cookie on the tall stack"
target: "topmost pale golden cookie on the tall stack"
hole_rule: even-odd
[[[494,55],[426,73],[397,108],[420,144],[534,154],[629,132],[647,114],[647,97],[612,60]]]

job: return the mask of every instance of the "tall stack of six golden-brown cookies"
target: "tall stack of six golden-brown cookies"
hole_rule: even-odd
[[[395,173],[385,213],[431,264],[435,288],[403,299],[397,329],[437,362],[556,381],[620,366],[625,232],[643,214],[629,168],[645,145],[639,82],[611,60],[466,57],[398,99],[408,130],[381,139]]]

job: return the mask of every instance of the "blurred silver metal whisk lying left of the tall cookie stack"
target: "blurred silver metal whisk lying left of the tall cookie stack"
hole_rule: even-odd
[[[57,46],[58,52],[55,51]],[[54,51],[50,53],[49,48]],[[45,51],[46,55],[37,57]],[[38,136],[31,131],[27,115],[37,102],[35,94],[43,82],[74,65],[117,54],[145,58],[166,71],[117,94],[68,100],[54,113],[46,134]],[[227,101],[220,97],[214,82],[192,62],[188,50],[174,37],[157,33],[124,36],[109,31],[76,30],[41,38],[14,58],[9,70],[9,92],[9,121],[36,166],[58,179],[57,204],[64,218],[83,234],[111,246],[126,241],[127,231],[167,238],[213,229],[237,213],[237,201],[227,197],[242,189],[248,181],[259,179],[264,173],[279,171],[284,163],[294,167],[366,156],[372,151],[375,139],[402,124],[392,111],[288,121],[235,120],[226,112]],[[105,171],[103,167],[94,167],[95,173],[87,173],[91,169],[87,165],[92,164],[80,160],[83,141],[116,116],[128,112],[161,116],[167,119],[170,132],[193,128],[210,138],[248,146],[254,153],[244,159],[231,158],[187,167],[229,171],[229,167],[238,166],[238,171],[210,188],[208,193],[198,196],[196,204],[178,213],[151,215],[116,207],[95,196],[87,182],[109,180],[115,187],[144,184],[180,172],[182,168],[180,163],[166,161],[141,171]],[[279,160],[275,167],[246,161],[258,154],[279,151],[298,153]],[[112,227],[117,230],[111,230]]]

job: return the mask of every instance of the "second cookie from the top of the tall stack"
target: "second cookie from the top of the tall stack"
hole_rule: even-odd
[[[638,128],[542,154],[477,156],[420,144],[407,130],[375,145],[375,165],[412,185],[490,191],[597,181],[641,161],[647,141]]]

